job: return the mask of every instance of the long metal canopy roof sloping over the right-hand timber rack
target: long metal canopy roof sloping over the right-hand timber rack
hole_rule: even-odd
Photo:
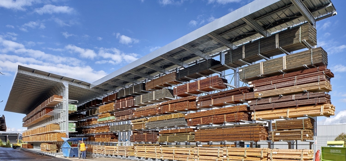
[[[117,91],[209,59],[220,51],[305,22],[315,24],[335,14],[330,0],[255,0],[91,83],[91,88]]]

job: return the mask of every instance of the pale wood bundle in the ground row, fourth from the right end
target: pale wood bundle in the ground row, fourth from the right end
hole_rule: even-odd
[[[161,159],[194,161],[194,150],[188,147],[161,147]]]

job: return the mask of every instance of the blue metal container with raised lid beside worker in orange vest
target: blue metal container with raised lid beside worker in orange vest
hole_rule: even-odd
[[[61,145],[61,150],[63,151],[64,157],[78,157],[78,147],[71,147],[69,142],[77,142],[79,140],[85,140],[88,138],[61,138],[64,143]]]

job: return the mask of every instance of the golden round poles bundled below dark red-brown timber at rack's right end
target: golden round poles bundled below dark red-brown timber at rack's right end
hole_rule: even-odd
[[[282,108],[274,110],[263,110],[252,112],[252,120],[262,119],[280,119],[286,118],[299,118],[304,117],[305,114],[310,116],[331,116],[335,113],[335,106],[333,104],[309,105],[294,108]]]

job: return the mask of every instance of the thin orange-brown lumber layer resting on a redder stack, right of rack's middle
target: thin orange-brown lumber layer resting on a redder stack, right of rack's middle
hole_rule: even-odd
[[[220,109],[212,109],[207,111],[188,113],[188,114],[185,114],[185,119],[193,119],[193,118],[200,118],[200,117],[234,113],[234,112],[250,112],[250,110],[247,105],[236,105],[236,106],[225,107]]]

